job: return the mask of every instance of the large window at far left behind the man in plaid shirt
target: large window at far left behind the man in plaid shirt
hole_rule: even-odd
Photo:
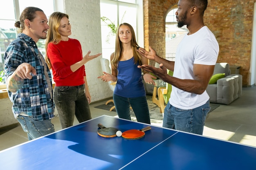
[[[6,88],[4,71],[4,52],[7,46],[17,37],[17,28],[14,23],[20,19],[20,13],[25,7],[38,7],[49,18],[54,12],[55,0],[0,0],[0,88]],[[56,9],[56,7],[55,7]],[[45,55],[45,40],[37,42],[39,50]]]

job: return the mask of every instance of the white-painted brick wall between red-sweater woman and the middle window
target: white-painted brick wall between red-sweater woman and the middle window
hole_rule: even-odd
[[[91,55],[101,53],[100,0],[65,0],[65,13],[72,26],[70,38],[80,41],[83,55],[89,50]],[[97,79],[102,75],[100,58],[85,64],[86,78],[92,102],[111,97],[113,92],[106,82]]]

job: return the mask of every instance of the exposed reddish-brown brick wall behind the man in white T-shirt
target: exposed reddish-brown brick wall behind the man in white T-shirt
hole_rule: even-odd
[[[165,17],[178,0],[144,0],[144,43],[165,57]],[[217,62],[241,66],[243,86],[249,85],[252,21],[256,0],[208,0],[204,24],[220,45]],[[150,62],[150,64],[154,64]]]

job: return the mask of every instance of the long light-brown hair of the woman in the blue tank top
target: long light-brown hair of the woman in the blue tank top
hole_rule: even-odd
[[[117,69],[117,64],[119,62],[119,59],[121,57],[122,54],[122,50],[123,50],[123,46],[122,46],[122,42],[119,39],[119,29],[120,26],[122,25],[126,25],[130,28],[130,31],[132,33],[132,40],[131,40],[131,46],[132,46],[132,51],[133,51],[133,57],[134,57],[134,64],[136,64],[137,62],[139,62],[139,65],[141,65],[141,56],[139,55],[139,52],[137,52],[137,48],[139,47],[137,42],[136,42],[136,38],[135,38],[135,32],[134,29],[132,28],[132,26],[128,23],[122,23],[119,25],[118,29],[117,29],[117,35],[116,35],[116,44],[115,44],[115,52],[114,52],[114,57],[111,61],[111,64]]]

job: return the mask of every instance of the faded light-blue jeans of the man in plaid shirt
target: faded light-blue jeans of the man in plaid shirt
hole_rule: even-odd
[[[27,132],[29,140],[48,135],[55,131],[50,119],[38,121],[29,116],[18,115],[17,120],[24,132]]]

